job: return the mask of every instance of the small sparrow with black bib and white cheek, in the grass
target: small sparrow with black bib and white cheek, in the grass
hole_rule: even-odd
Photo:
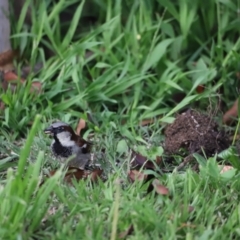
[[[91,143],[87,142],[73,131],[64,122],[55,122],[44,130],[46,134],[53,136],[51,150],[53,155],[61,162],[68,162],[68,166],[79,169],[86,169],[91,162]]]

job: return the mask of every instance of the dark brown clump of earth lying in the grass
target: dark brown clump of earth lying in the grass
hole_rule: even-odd
[[[165,131],[165,152],[189,155],[205,152],[212,156],[230,146],[228,135],[213,118],[196,110],[178,115]]]

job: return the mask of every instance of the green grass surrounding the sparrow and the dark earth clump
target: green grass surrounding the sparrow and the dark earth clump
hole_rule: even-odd
[[[232,149],[222,155],[235,167],[226,174],[215,158],[206,162],[198,155],[199,173],[157,174],[169,197],[147,194],[149,183],[130,183],[127,165],[130,148],[149,158],[161,154],[164,126],[178,111],[197,106],[214,112],[221,98],[224,112],[238,98],[240,1],[32,5],[27,0],[19,20],[11,17],[11,41],[21,53],[19,72],[39,62],[43,69],[15,92],[0,89],[6,105],[0,114],[0,239],[118,239],[131,225],[128,239],[237,239],[239,162]],[[72,5],[72,19],[61,23],[59,14]],[[24,23],[28,6],[31,25]],[[32,81],[42,83],[41,94],[30,93]],[[202,94],[196,92],[200,84]],[[176,93],[186,97],[174,102]],[[42,130],[55,119],[76,127],[88,115],[93,121],[85,136],[94,133],[94,152],[106,149],[100,161],[115,172],[107,171],[105,183],[69,186],[60,168],[39,186],[56,166]],[[139,126],[148,118],[157,119]],[[146,151],[148,144],[153,148]]]

